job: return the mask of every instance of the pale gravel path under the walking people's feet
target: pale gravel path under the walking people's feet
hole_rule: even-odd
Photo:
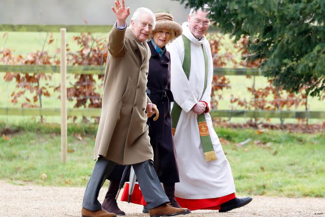
[[[0,216],[81,216],[84,188],[13,185],[0,180]],[[100,193],[104,199],[106,188]],[[127,216],[149,216],[142,206],[118,201]],[[281,198],[254,196],[245,207],[226,213],[197,210],[199,216],[325,216],[325,198]],[[184,217],[185,217],[184,216]]]

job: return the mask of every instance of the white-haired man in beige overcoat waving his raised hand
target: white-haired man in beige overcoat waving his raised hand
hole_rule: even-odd
[[[96,161],[87,184],[82,216],[116,216],[102,209],[99,191],[114,165],[133,165],[150,216],[170,216],[187,212],[169,206],[168,197],[153,168],[153,151],[146,125],[154,106],[146,96],[150,49],[146,40],[155,26],[154,14],[139,8],[126,28],[129,8],[119,0],[112,7],[117,22],[109,33],[102,114],[96,135]]]

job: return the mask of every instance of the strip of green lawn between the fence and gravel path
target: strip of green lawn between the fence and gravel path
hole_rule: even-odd
[[[15,184],[84,187],[94,162],[96,125],[69,125],[67,163],[60,160],[60,126],[0,122],[19,131],[9,140],[0,138],[0,179]],[[325,197],[325,135],[292,134],[218,128],[218,136],[231,163],[236,190],[241,195]],[[80,134],[82,141],[74,134]],[[238,147],[239,142],[251,141]],[[222,140],[221,140],[222,141]],[[259,141],[259,142],[256,142]],[[257,144],[256,144],[257,143]],[[42,174],[47,175],[42,179]]]

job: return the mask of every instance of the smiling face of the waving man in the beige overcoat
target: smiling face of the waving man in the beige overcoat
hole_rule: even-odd
[[[146,41],[152,33],[153,19],[148,13],[139,15],[136,22],[131,20],[131,30],[140,42]]]

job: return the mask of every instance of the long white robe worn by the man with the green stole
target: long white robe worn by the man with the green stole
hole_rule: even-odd
[[[218,198],[236,191],[230,164],[213,129],[209,113],[205,113],[205,118],[218,159],[210,162],[205,160],[197,114],[191,111],[199,101],[207,102],[210,108],[213,60],[207,39],[196,39],[187,24],[183,23],[182,28],[183,35],[191,41],[189,79],[186,78],[182,68],[184,59],[182,37],[178,37],[167,47],[171,54],[171,90],[175,102],[182,108],[174,136],[180,176],[180,182],[175,185],[175,196],[184,199]],[[209,66],[207,88],[203,96],[205,63],[201,44],[207,51]]]

